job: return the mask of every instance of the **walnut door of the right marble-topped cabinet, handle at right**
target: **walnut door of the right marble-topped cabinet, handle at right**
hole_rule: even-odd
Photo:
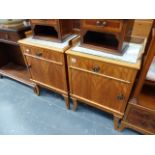
[[[71,93],[84,99],[122,112],[127,102],[130,85],[78,69],[70,69]]]

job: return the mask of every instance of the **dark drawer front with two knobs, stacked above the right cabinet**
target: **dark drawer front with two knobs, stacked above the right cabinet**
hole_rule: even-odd
[[[88,19],[83,20],[84,28],[92,28],[100,31],[121,31],[122,29],[122,20],[106,20],[106,19]]]

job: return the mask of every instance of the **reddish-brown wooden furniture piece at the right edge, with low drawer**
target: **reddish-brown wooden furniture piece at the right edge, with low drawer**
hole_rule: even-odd
[[[120,131],[124,128],[132,128],[142,134],[155,134],[155,80],[147,77],[150,66],[154,68],[154,63],[152,64],[155,56],[154,32],[155,30],[151,33],[149,48],[121,121]]]

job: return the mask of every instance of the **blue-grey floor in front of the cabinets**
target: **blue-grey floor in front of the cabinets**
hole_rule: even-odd
[[[71,103],[72,106],[72,103]],[[113,116],[83,103],[73,112],[61,95],[0,79],[0,135],[138,135],[113,128]]]

